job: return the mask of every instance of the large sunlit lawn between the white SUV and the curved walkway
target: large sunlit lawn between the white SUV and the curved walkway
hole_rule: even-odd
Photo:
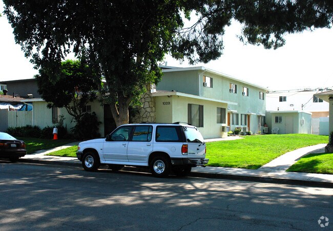
[[[328,136],[308,134],[245,136],[206,144],[208,166],[258,169],[278,156],[309,145],[327,143]]]

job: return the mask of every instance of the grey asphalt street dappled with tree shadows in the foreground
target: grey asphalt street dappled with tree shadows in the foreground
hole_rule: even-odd
[[[0,161],[1,230],[332,230],[332,196],[332,188]]]

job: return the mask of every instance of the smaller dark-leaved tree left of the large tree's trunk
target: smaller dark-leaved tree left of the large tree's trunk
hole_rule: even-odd
[[[34,77],[47,107],[65,108],[76,122],[84,114],[86,104],[97,98],[100,87],[98,76],[79,60],[61,62],[57,74],[41,68]]]

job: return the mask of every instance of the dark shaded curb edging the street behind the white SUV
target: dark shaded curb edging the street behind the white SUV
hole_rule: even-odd
[[[81,166],[80,163],[36,160],[36,159],[22,159],[22,158],[19,159],[19,162],[63,165],[63,166],[65,165],[65,166],[74,166],[74,167]],[[125,166],[125,167],[123,167],[123,169],[121,171],[149,173],[148,168],[131,167],[131,166]],[[289,184],[289,185],[333,188],[333,182],[323,182],[323,181],[309,181],[309,180],[284,179],[284,178],[274,178],[274,177],[262,177],[262,176],[246,176],[246,175],[200,173],[200,172],[191,172],[189,176],[190,177],[209,178],[209,179],[241,180],[241,181],[252,181],[252,182],[262,182],[262,183],[276,183],[276,184]]]

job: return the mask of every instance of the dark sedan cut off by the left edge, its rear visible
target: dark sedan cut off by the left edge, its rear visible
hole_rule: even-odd
[[[27,154],[26,144],[11,135],[0,132],[0,158],[9,158],[10,161],[18,161],[18,158]]]

